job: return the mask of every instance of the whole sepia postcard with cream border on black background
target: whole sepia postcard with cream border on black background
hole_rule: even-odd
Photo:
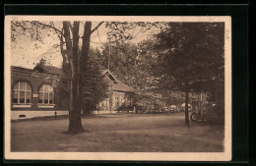
[[[7,16],[5,158],[231,160],[231,18]]]

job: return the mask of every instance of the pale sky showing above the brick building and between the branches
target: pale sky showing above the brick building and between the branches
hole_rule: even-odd
[[[98,23],[93,22],[92,29],[96,27]],[[54,22],[56,28],[61,29],[62,22]],[[80,27],[80,34],[83,34],[83,24]],[[97,47],[99,50],[103,49],[102,43],[107,42],[106,32],[108,28],[105,28],[102,24],[97,30],[91,35],[91,46]],[[140,28],[134,28],[132,31],[129,31],[133,34],[134,39],[130,40],[131,42],[138,43],[143,39],[146,39],[150,33],[156,31],[155,28],[151,28],[146,32],[139,32]],[[51,33],[50,33],[51,34]],[[59,39],[56,35],[48,35],[47,32],[41,31],[42,42],[33,40],[29,35],[20,35],[19,41],[12,43],[12,57],[11,65],[19,66],[24,68],[32,69],[41,58],[47,60],[47,65],[61,67],[62,56],[60,54],[59,47],[56,47],[56,44],[59,44]],[[54,47],[55,46],[55,47]]]

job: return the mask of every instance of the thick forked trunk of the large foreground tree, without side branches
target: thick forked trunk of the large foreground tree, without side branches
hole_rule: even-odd
[[[74,73],[71,81],[71,105],[73,111],[71,111],[69,118],[69,134],[83,133],[85,130],[82,126],[81,120],[81,108],[82,108],[82,84],[83,84],[83,73],[86,73],[86,65],[88,63],[88,53],[90,48],[92,23],[86,22],[84,27],[84,36],[82,43],[82,51],[79,55],[79,22],[74,23],[73,31],[73,64]],[[71,61],[72,66],[72,61]],[[86,85],[86,84],[84,84]]]

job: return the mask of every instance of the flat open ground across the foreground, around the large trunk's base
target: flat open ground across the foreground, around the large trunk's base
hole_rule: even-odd
[[[84,117],[86,133],[63,134],[68,119],[12,122],[11,151],[220,152],[224,127],[184,126],[182,114]]]

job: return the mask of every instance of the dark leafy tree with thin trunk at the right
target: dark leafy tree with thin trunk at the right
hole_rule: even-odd
[[[156,74],[162,76],[161,86],[185,92],[189,126],[189,92],[210,91],[214,83],[223,84],[224,24],[169,23],[157,34],[154,49],[159,55]]]

